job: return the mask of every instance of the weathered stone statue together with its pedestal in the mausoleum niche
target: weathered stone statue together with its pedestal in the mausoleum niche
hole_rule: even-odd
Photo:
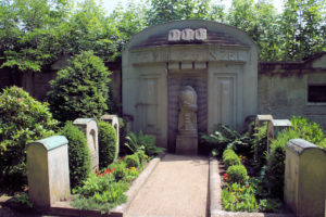
[[[197,93],[190,86],[185,86],[179,94],[179,120],[176,137],[176,154],[197,155]]]

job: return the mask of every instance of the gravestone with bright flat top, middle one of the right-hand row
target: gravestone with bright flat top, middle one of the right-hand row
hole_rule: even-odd
[[[284,129],[292,127],[291,122],[288,119],[272,119],[267,124],[267,150],[269,151],[271,142]]]

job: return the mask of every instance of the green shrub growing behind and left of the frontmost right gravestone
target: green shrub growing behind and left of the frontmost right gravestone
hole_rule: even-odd
[[[283,197],[286,144],[289,140],[300,138],[314,144],[324,146],[325,135],[316,123],[303,117],[293,116],[291,119],[292,128],[278,133],[277,138],[272,141],[271,151],[267,157],[267,179],[269,189],[273,194]]]

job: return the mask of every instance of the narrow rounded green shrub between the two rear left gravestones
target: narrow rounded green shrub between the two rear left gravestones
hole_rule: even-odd
[[[117,157],[118,144],[116,142],[116,132],[112,125],[100,120],[99,127],[99,166],[106,167]]]

